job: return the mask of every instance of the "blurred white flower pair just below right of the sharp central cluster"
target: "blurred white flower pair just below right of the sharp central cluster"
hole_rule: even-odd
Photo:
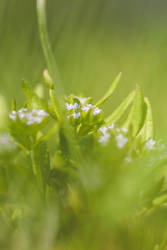
[[[106,145],[107,143],[108,143],[108,141],[109,141],[109,139],[110,139],[110,136],[111,136],[111,134],[110,134],[110,130],[112,130],[112,129],[114,129],[114,124],[111,124],[110,126],[104,126],[104,127],[101,127],[100,129],[99,129],[99,131],[100,132],[102,132],[102,136],[100,136],[100,138],[99,138],[99,142],[102,144],[102,145]],[[116,128],[116,132],[121,132],[121,131],[123,131],[124,133],[127,133],[128,131],[127,130],[125,130],[124,128],[122,128],[122,129],[118,129],[118,128]],[[123,148],[126,144],[127,144],[127,142],[128,142],[128,138],[127,137],[125,137],[123,134],[118,134],[118,135],[116,135],[116,137],[115,137],[115,139],[116,139],[116,143],[117,143],[117,147],[118,148]]]

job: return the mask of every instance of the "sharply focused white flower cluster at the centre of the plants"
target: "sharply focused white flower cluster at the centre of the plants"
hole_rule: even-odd
[[[93,113],[94,116],[96,116],[96,115],[98,115],[98,114],[100,114],[102,112],[102,109],[99,109],[99,108],[93,106],[92,104],[84,104],[86,102],[86,100],[87,100],[87,98],[82,98],[82,101],[80,100],[82,105],[79,105],[78,103],[72,104],[72,103],[66,102],[66,104],[65,104],[66,109],[68,111],[74,111],[71,114],[71,116],[74,119],[78,119],[81,116],[80,111],[83,111],[83,112],[87,113],[89,110],[92,110],[92,113]],[[70,116],[68,115],[67,118],[69,119]]]

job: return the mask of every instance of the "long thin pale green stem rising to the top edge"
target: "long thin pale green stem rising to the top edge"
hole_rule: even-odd
[[[39,35],[48,71],[53,79],[57,94],[62,94],[63,86],[61,82],[61,77],[52,51],[47,31],[46,0],[37,0],[37,16],[38,16]]]

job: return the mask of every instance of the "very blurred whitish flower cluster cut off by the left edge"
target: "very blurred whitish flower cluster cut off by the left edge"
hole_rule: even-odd
[[[8,134],[0,135],[0,153],[4,151],[12,151],[16,148],[16,144],[10,139]]]

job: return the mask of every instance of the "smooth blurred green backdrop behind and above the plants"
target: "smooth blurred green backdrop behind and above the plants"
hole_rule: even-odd
[[[153,105],[156,135],[167,139],[167,2],[48,0],[48,29],[66,93],[97,100],[123,72],[109,113],[135,84]],[[35,0],[0,0],[0,92],[23,101],[21,79],[34,86],[46,67]]]

